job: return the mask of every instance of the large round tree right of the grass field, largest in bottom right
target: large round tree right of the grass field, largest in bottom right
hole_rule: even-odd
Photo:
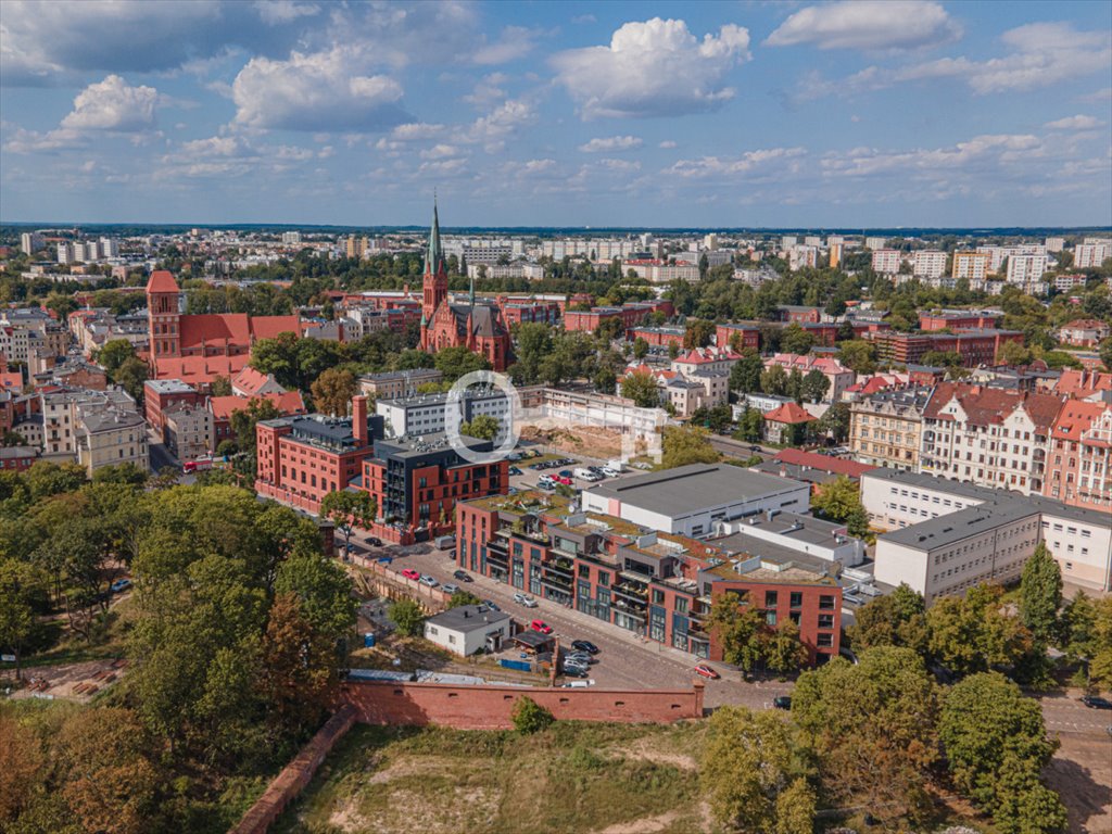
[[[937,712],[934,681],[906,648],[868,649],[857,665],[835,657],[804,672],[792,693],[792,717],[827,794],[885,823],[921,821],[931,808]]]

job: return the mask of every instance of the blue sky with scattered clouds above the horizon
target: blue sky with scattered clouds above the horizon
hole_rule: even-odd
[[[0,220],[1112,224],[1112,3],[0,3]]]

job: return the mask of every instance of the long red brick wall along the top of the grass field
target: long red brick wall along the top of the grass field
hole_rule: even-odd
[[[528,695],[557,719],[666,724],[703,717],[703,684],[689,689],[545,689],[522,686],[454,686],[348,682],[341,698],[365,724],[423,727],[439,724],[457,729],[504,729],[515,702]]]

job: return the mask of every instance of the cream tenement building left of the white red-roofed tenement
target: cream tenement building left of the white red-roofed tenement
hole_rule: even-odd
[[[902,388],[874,394],[850,406],[850,448],[854,459],[872,466],[919,471],[923,409],[931,388]]]

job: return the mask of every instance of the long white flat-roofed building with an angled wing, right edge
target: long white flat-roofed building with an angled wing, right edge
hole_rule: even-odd
[[[1019,577],[1039,540],[1071,585],[1112,590],[1112,515],[930,475],[873,469],[861,499],[874,529],[875,578],[927,602]]]

